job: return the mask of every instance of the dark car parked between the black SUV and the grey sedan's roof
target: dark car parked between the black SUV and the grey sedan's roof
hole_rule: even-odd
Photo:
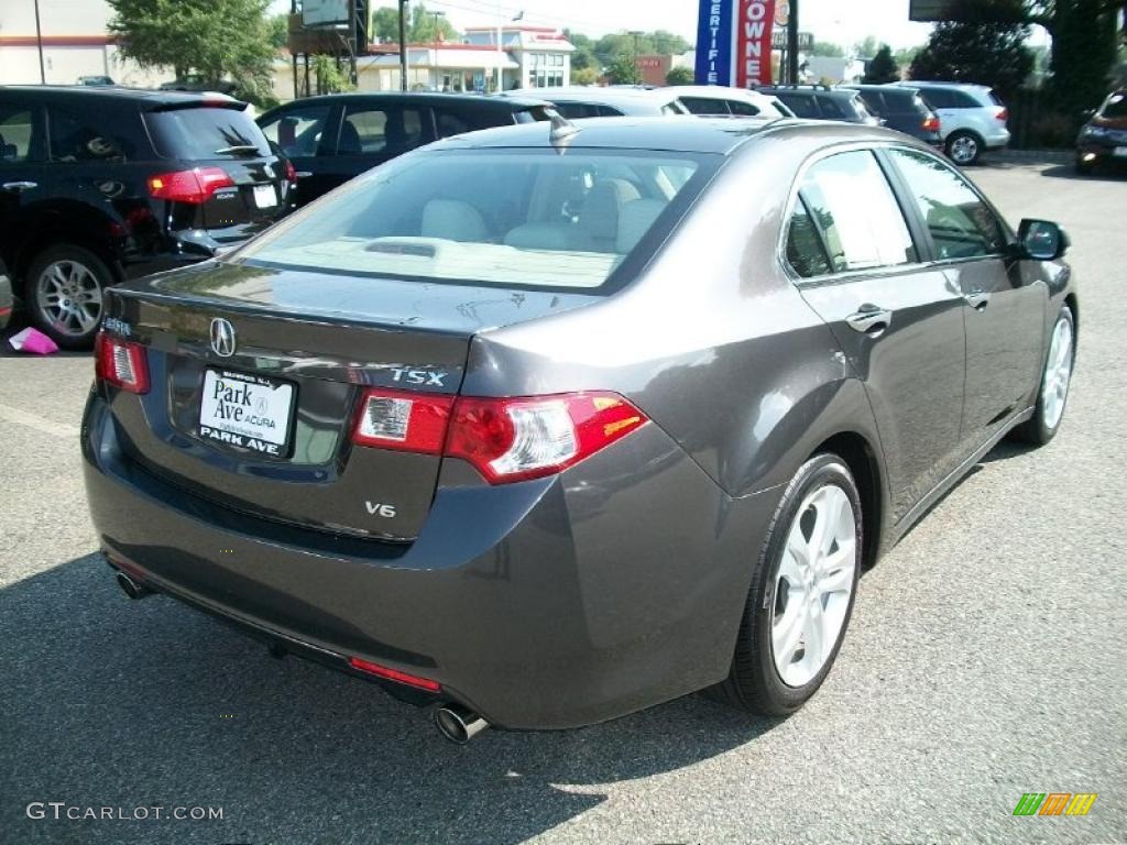
[[[544,121],[547,105],[471,94],[334,94],[273,108],[258,125],[293,163],[295,202],[304,205],[436,139]]]

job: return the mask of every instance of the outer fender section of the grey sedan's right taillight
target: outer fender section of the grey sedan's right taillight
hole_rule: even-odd
[[[445,454],[491,484],[560,472],[648,421],[616,393],[476,399],[459,397]]]

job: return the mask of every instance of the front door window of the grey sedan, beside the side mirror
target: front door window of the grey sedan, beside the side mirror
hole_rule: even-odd
[[[889,155],[915,198],[937,258],[976,258],[1005,249],[1004,228],[962,176],[925,152],[891,150]]]

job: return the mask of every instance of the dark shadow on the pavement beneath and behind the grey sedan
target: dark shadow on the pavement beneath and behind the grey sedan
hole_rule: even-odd
[[[170,598],[126,599],[94,554],[0,590],[0,825],[21,843],[516,843],[604,802],[602,784],[778,723],[692,695],[455,746],[372,684],[270,659]],[[33,801],[222,807],[223,820],[33,820]]]

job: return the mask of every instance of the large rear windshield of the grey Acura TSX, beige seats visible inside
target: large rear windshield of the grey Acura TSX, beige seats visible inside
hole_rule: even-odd
[[[233,254],[251,265],[427,282],[600,287],[665,232],[716,157],[569,149],[396,159]]]

